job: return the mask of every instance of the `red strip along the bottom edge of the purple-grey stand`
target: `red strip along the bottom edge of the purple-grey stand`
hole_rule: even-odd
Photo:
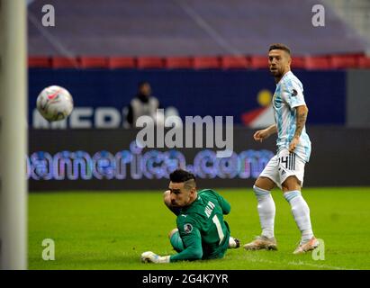
[[[29,57],[28,65],[34,68],[186,68],[186,69],[266,69],[266,56],[220,57]],[[292,67],[307,70],[341,68],[368,68],[370,58],[361,54],[293,57]]]

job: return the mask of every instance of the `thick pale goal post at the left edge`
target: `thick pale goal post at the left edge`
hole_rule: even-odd
[[[27,269],[27,6],[0,0],[0,268]]]

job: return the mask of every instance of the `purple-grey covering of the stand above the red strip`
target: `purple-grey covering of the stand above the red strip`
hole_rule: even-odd
[[[364,52],[365,40],[329,7],[325,29],[307,29],[312,5],[318,3],[302,0],[295,9],[291,0],[280,0],[279,11],[286,13],[282,16],[272,9],[274,0],[54,0],[58,19],[51,32],[31,21],[41,19],[45,4],[36,0],[28,9],[29,54],[265,55],[273,39],[291,44],[295,56]]]

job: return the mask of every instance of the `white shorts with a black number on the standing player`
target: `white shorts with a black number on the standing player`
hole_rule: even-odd
[[[281,189],[286,178],[294,175],[302,186],[304,165],[305,162],[301,157],[295,153],[289,153],[288,149],[284,148],[270,159],[259,176],[271,179]]]

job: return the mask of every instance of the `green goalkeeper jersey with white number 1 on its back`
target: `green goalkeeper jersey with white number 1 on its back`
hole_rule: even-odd
[[[220,194],[211,189],[199,191],[197,199],[177,213],[177,229],[184,250],[171,256],[170,261],[223,257],[230,238],[223,215],[229,213],[230,203]]]

